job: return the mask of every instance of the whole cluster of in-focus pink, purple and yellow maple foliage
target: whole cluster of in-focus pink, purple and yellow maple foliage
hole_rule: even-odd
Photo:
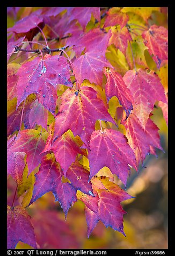
[[[42,248],[28,209],[49,191],[65,218],[84,203],[88,237],[99,221],[127,235],[118,180],[163,150],[151,111],[167,122],[167,29],[149,22],[162,11],[31,8],[8,28],[8,248]]]

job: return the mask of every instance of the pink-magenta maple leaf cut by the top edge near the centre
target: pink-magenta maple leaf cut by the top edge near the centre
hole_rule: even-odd
[[[82,25],[83,30],[85,30],[86,25],[91,19],[91,13],[93,13],[94,18],[100,21],[100,8],[99,7],[75,7],[71,11],[70,21],[77,19]]]

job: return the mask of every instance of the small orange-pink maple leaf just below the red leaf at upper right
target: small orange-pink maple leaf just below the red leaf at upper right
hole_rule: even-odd
[[[111,38],[108,45],[114,44],[116,48],[125,54],[128,46],[128,40],[132,40],[127,27],[123,27],[122,30],[119,27],[111,27]]]

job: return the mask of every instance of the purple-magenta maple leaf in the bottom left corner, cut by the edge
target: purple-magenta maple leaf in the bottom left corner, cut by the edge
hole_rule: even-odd
[[[8,249],[15,249],[22,241],[33,248],[37,248],[33,226],[27,211],[20,206],[8,206]]]

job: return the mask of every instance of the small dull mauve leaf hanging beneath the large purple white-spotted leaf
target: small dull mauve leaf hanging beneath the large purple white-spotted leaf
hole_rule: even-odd
[[[28,116],[31,128],[34,128],[35,124],[38,124],[47,130],[47,117],[47,110],[36,99],[31,105],[31,111]]]

